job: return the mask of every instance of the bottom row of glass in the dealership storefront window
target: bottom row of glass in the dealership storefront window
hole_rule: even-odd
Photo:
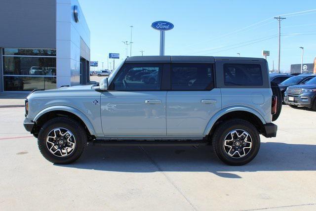
[[[33,91],[56,88],[56,77],[4,76],[5,91]]]

